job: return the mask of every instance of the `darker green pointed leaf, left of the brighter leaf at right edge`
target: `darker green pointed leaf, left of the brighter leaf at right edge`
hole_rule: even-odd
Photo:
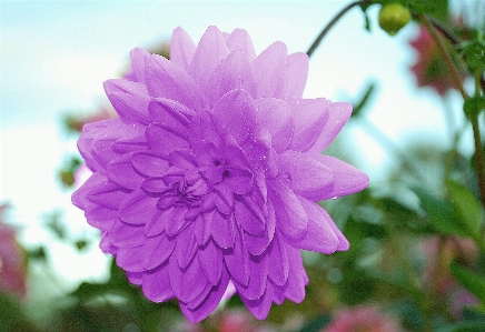
[[[423,210],[428,215],[432,228],[443,234],[468,237],[468,232],[458,222],[454,205],[439,200],[420,188],[413,191],[419,198]]]

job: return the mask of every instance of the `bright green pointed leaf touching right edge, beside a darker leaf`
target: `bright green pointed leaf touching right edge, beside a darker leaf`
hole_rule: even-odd
[[[459,223],[469,237],[479,239],[483,222],[481,203],[468,189],[455,181],[448,181],[448,191]]]

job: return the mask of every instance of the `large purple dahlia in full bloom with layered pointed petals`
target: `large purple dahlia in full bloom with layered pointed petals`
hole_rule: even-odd
[[[170,60],[135,49],[131,62],[105,83],[119,119],[86,124],[78,141],[93,174],[72,202],[101,249],[151,301],[178,299],[190,322],[230,283],[258,319],[303,301],[300,249],[348,248],[316,202],[368,184],[321,154],[350,104],[303,99],[308,57],[283,42],[256,56],[239,29],[210,27],[196,46],[178,28]]]

